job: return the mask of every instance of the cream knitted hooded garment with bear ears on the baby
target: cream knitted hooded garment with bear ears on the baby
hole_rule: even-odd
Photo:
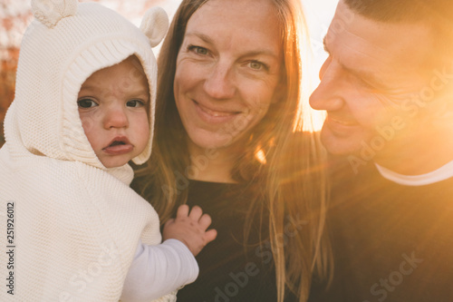
[[[106,169],[97,159],[77,94],[92,73],[135,54],[149,80],[153,121],[150,45],[166,33],[167,16],[145,15],[147,37],[101,5],[36,0],[32,10],[37,20],[24,34],[0,150],[0,300],[118,301],[139,240],[160,243],[159,218],[130,190],[129,165]],[[134,162],[147,161],[151,139]],[[14,237],[6,237],[8,227]]]

